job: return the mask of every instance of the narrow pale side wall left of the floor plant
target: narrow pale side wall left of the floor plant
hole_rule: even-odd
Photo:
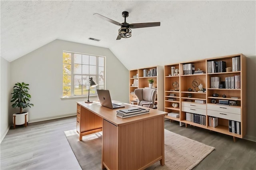
[[[12,116],[8,116],[12,86],[10,85],[10,63],[1,57],[0,65],[0,142],[2,142],[12,122]]]

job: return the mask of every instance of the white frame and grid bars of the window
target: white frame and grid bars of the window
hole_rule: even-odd
[[[95,88],[95,90],[96,89],[99,89],[99,78],[100,78],[100,76],[99,76],[99,67],[102,67],[102,66],[99,66],[99,58],[100,57],[102,57],[103,59],[104,59],[104,64],[103,64],[103,67],[104,67],[104,74],[103,74],[103,77],[104,77],[104,85],[100,85],[101,87],[103,86],[103,89],[106,89],[106,56],[102,56],[102,55],[94,55],[94,54],[87,54],[87,53],[80,53],[80,52],[72,52],[72,51],[62,51],[62,69],[63,69],[63,66],[64,66],[64,64],[66,64],[66,63],[64,63],[63,62],[63,54],[64,53],[70,53],[71,54],[71,85],[70,85],[70,96],[64,96],[63,95],[63,91],[64,91],[64,87],[68,87],[68,85],[65,85],[64,86],[64,82],[63,82],[63,79],[64,79],[64,74],[62,74],[62,98],[72,98],[72,97],[88,97],[88,93],[87,94],[82,94],[82,95],[75,95],[75,85],[74,85],[74,79],[75,79],[75,75],[81,75],[82,77],[83,76],[88,76],[89,78],[90,77],[96,77],[96,79],[93,79],[94,81],[95,81],[95,83],[96,84],[98,84],[98,86],[96,86],[96,87],[91,87],[90,88],[90,85],[89,85],[89,88],[90,88],[90,94],[89,94],[89,96],[96,96],[97,95],[97,93],[91,93],[91,91],[92,91],[92,88]],[[74,73],[74,69],[75,69],[75,63],[74,63],[74,55],[75,54],[81,54],[81,55],[88,55],[89,57],[90,56],[94,56],[94,57],[96,57],[96,74],[90,74],[90,69],[89,69],[89,74],[82,74],[82,72],[81,72],[81,74],[78,74],[78,73]],[[80,65],[84,65],[84,64],[80,64]],[[88,63],[88,66],[90,67],[90,59],[89,59],[89,63]],[[81,85],[82,85],[83,83],[81,83]],[[85,86],[87,86],[87,85],[85,85]],[[87,89],[87,88],[86,88]],[[101,88],[102,89],[102,88]],[[83,93],[83,90],[81,89],[81,92]]]

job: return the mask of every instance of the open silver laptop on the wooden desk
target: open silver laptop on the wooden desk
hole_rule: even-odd
[[[118,109],[118,108],[124,107],[122,105],[112,103],[109,90],[98,90],[97,89],[97,93],[98,93],[98,98],[100,100],[100,104],[102,106],[108,107],[110,109]]]

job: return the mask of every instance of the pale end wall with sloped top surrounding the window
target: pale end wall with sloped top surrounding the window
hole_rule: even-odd
[[[29,111],[29,122],[76,115],[76,101],[87,100],[87,97],[61,99],[64,50],[106,56],[106,89],[112,100],[128,103],[129,71],[109,49],[54,40],[11,62],[11,85],[22,81],[29,84],[31,103],[34,104],[25,110]],[[90,101],[93,100],[98,98],[90,97]],[[14,112],[10,109],[9,114]]]

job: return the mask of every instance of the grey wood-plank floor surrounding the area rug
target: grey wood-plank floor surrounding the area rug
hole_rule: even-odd
[[[64,135],[64,131],[74,128],[76,116],[10,128],[0,145],[0,169],[80,170]],[[165,121],[165,128],[215,147],[193,170],[256,170],[256,142],[233,142],[231,136],[193,126],[180,127],[178,122],[169,120]]]

